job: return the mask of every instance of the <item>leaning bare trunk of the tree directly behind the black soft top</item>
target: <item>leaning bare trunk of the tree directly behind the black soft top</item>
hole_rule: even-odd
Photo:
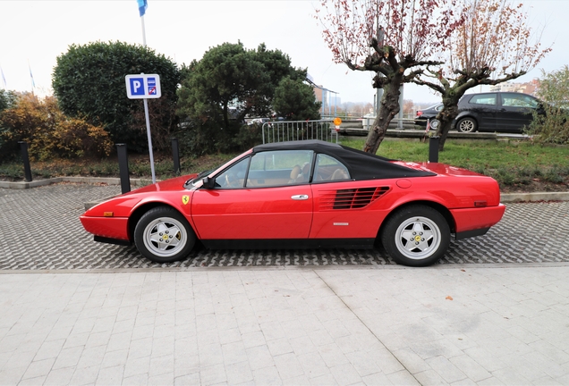
[[[401,94],[401,76],[394,76],[389,83],[384,84],[384,93],[378,108],[378,114],[369,130],[363,151],[371,154],[378,152],[379,145],[386,137],[387,127],[395,115],[399,113],[399,96]]]

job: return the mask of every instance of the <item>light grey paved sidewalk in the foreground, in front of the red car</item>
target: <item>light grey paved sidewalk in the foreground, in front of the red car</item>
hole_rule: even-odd
[[[569,264],[0,273],[0,384],[569,384]]]

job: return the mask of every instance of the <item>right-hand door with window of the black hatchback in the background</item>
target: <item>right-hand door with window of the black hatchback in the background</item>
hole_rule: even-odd
[[[497,131],[522,132],[533,120],[539,102],[533,96],[520,93],[502,93],[497,112]]]

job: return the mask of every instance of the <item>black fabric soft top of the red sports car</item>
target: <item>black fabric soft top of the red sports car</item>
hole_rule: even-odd
[[[420,171],[399,164],[379,155],[372,155],[352,147],[316,139],[276,142],[253,147],[253,153],[270,150],[314,150],[316,153],[331,155],[348,168],[354,180],[377,180],[403,177],[426,177],[437,175],[434,172]]]

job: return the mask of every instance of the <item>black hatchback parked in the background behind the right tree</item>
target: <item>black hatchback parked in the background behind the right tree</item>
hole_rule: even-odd
[[[468,94],[458,103],[453,129],[459,132],[498,131],[521,133],[533,113],[545,113],[534,96],[515,92]]]

